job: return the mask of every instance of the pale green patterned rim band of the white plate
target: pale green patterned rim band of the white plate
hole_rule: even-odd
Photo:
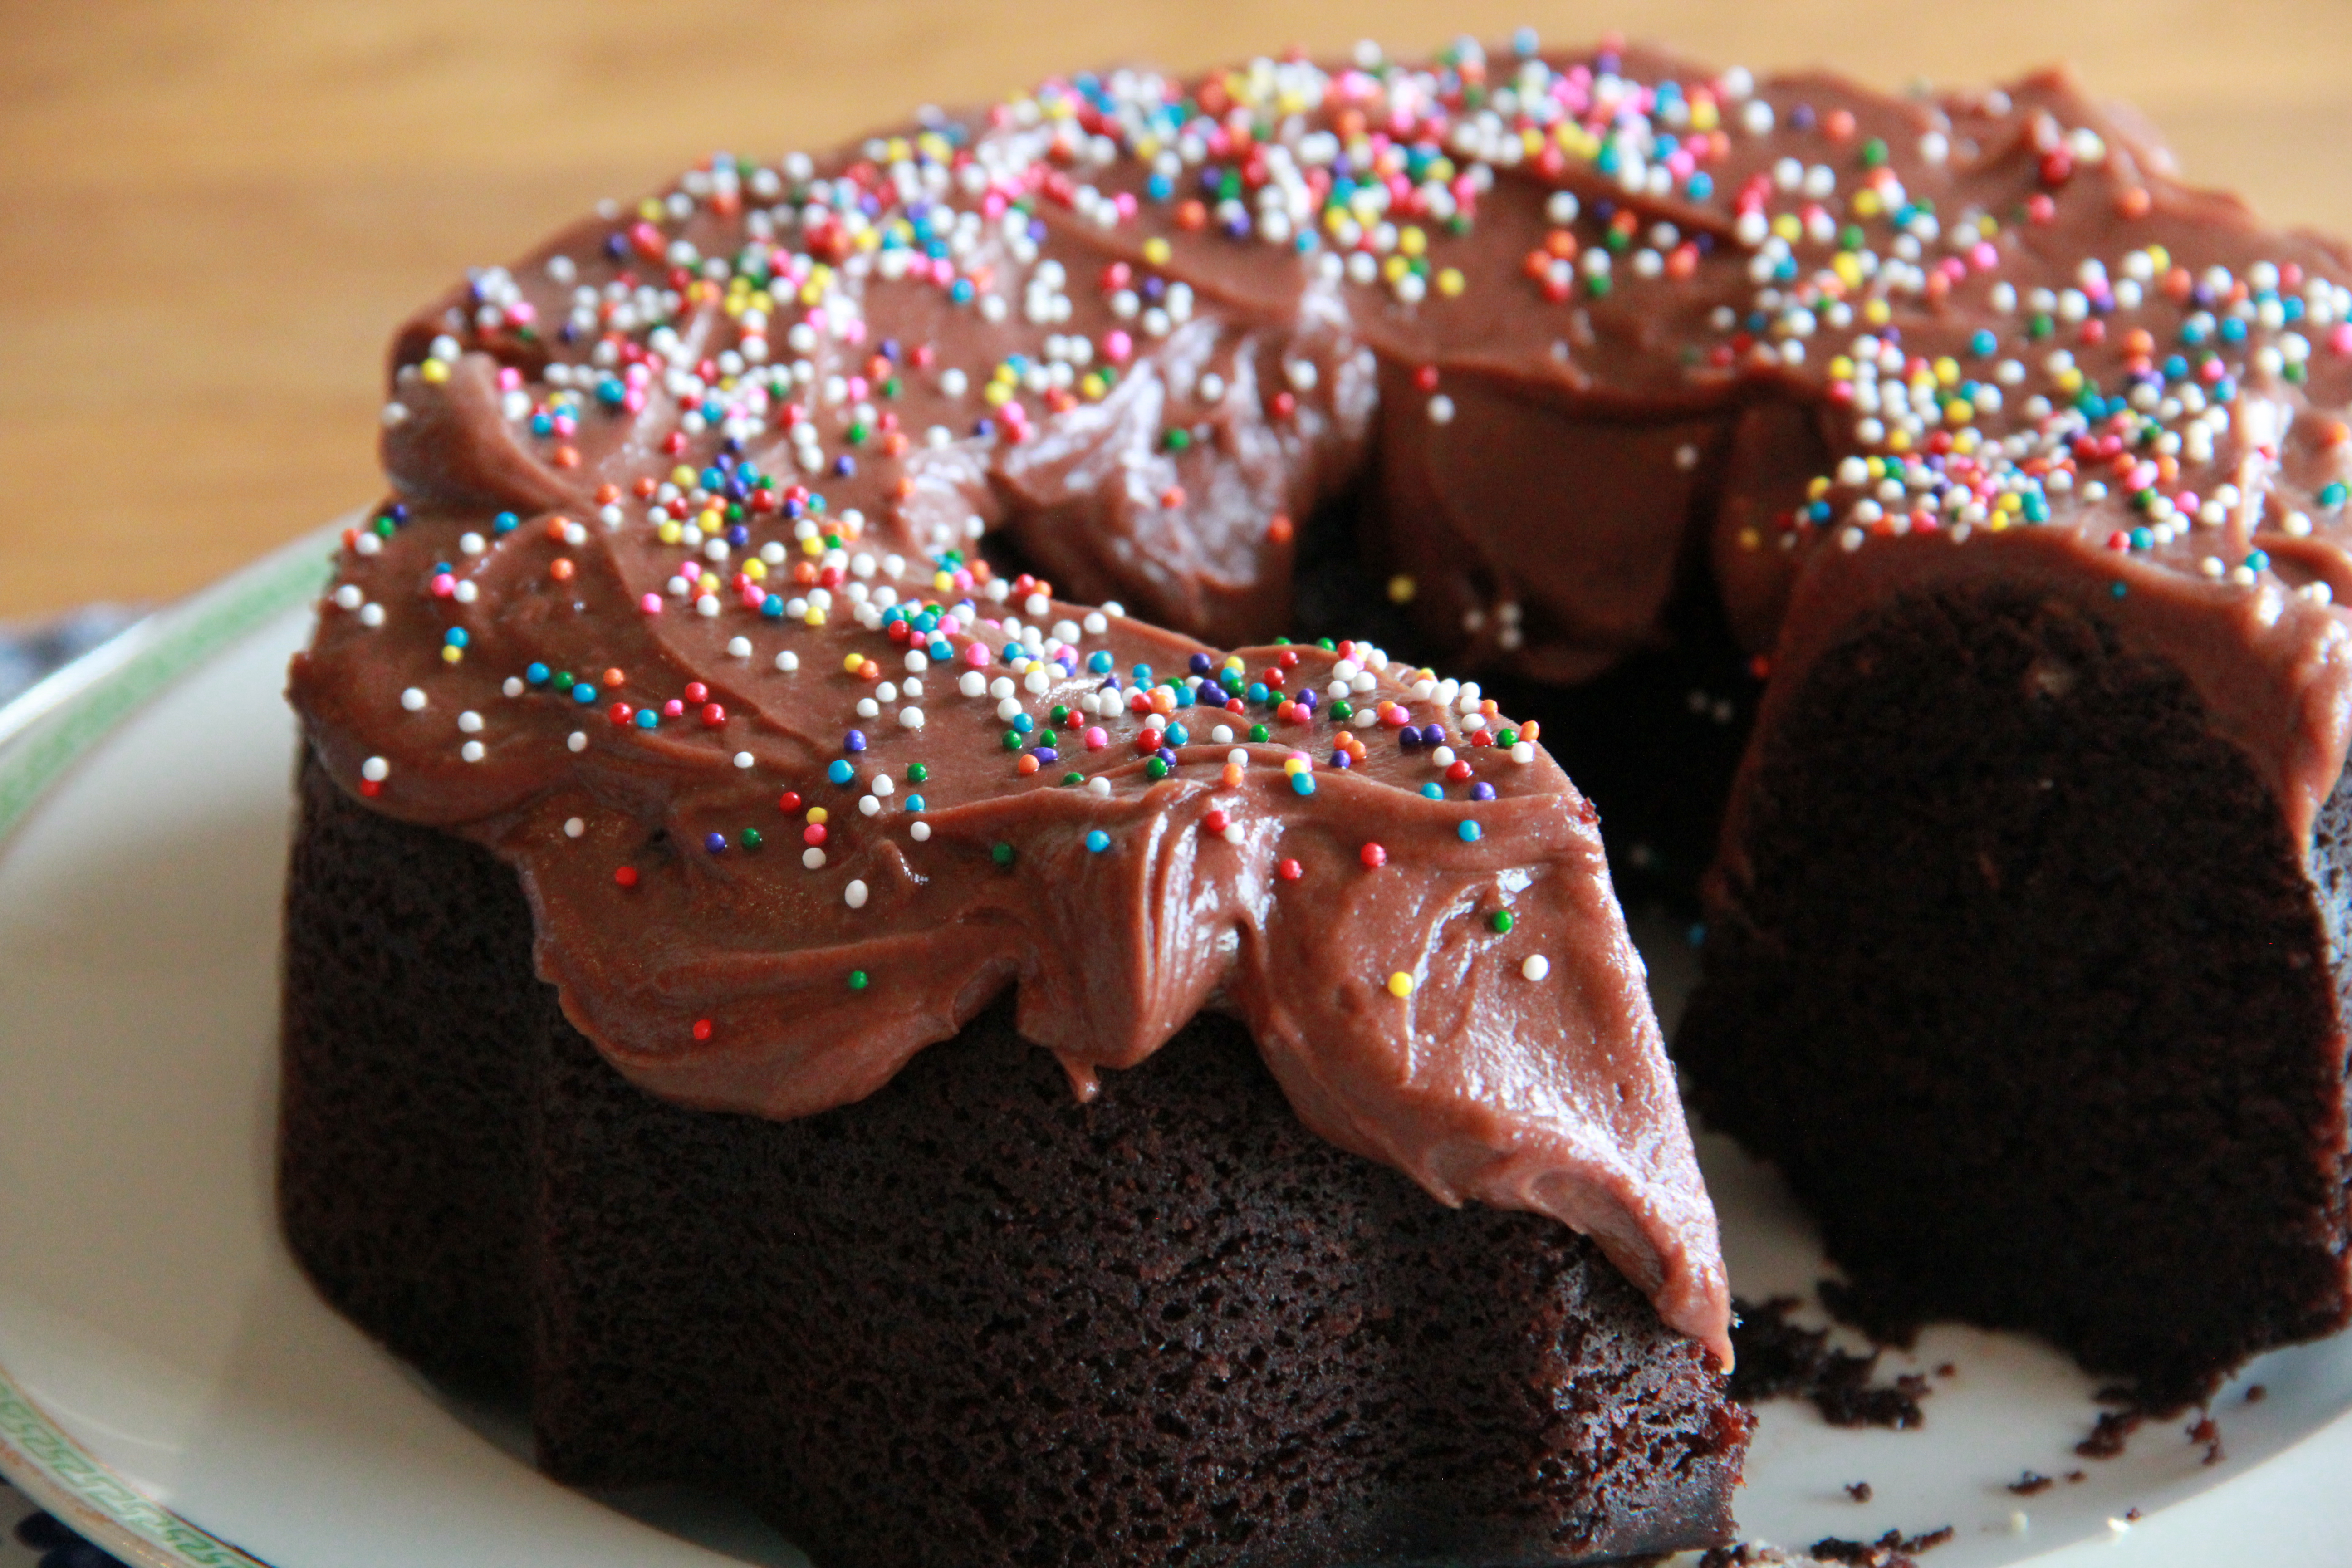
[[[343,524],[299,538],[66,665],[0,710],[0,851],[42,795],[167,686],[270,616],[318,597]],[[21,729],[19,729],[21,724]],[[14,731],[14,733],[9,733]],[[263,1568],[143,1497],[33,1403],[0,1366],[0,1474],[66,1526],[139,1568]]]

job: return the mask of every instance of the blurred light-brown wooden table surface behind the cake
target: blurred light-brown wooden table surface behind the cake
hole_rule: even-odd
[[[1054,71],[1632,28],[1900,87],[2072,61],[2192,179],[2352,230],[2345,0],[0,2],[0,616],[153,599],[372,501],[388,329],[715,148]]]

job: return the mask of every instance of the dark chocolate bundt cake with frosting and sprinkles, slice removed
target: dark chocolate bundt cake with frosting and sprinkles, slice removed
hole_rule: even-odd
[[[400,334],[294,663],[294,1248],[826,1563],[1719,1540],[1557,755],[1719,830],[1677,1056],[1853,1309],[2192,1396],[2352,1305],[2338,277],[2056,75],[1531,40],[607,207]]]

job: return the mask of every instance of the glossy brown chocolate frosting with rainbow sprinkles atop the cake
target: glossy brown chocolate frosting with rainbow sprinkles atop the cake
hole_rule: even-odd
[[[1776,689],[1889,592],[2030,576],[2178,663],[2307,835],[2347,273],[2063,75],[1056,80],[713,158],[414,320],[395,496],[292,696],[336,778],[515,865],[654,1093],[840,1105],[1004,985],[1089,1093],[1223,1006],[1319,1133],[1595,1234],[1729,1361],[1534,726],[1369,644],[1209,644],[1282,630],[1291,520],[1345,491],[1423,637],[1548,679],[1658,642],[1693,574]],[[1736,896],[1738,802],[1726,844]]]

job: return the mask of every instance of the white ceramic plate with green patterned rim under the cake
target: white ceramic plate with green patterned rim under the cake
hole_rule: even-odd
[[[386,1356],[278,1241],[280,689],[327,548],[275,555],[0,710],[0,1472],[148,1566],[797,1563],[713,1500],[539,1479],[510,1415]],[[1661,999],[1679,999],[1686,952],[1656,943],[1653,961]],[[1825,1269],[1785,1194],[1719,1138],[1700,1154],[1733,1286],[1806,1293]],[[2091,1385],[2025,1340],[1931,1331],[1882,1375],[1943,1361],[1957,1375],[1915,1432],[1766,1406],[1743,1533],[1802,1547],[1955,1526],[1929,1568],[2352,1554],[2352,1338],[2249,1368],[2213,1406],[2216,1467],[2187,1422],[2143,1429],[2122,1460],[2074,1458]],[[2246,1403],[2251,1382],[2267,1399]],[[2004,1490],[2025,1469],[2086,1479]],[[2110,1528],[2129,1509],[2140,1521]]]

